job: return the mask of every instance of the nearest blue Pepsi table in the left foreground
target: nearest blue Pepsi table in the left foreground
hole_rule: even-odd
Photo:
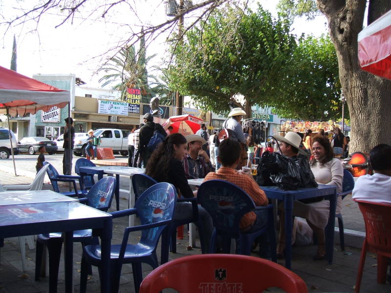
[[[3,192],[9,193],[9,192]],[[0,206],[0,238],[63,232],[65,292],[73,292],[73,231],[92,229],[101,237],[101,292],[109,293],[112,216],[75,201]]]

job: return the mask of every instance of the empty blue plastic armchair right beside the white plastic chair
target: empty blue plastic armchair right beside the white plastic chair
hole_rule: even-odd
[[[72,176],[72,175],[60,175],[57,172],[56,168],[53,167],[53,165],[51,165],[50,163],[47,163],[47,162],[43,162],[43,166],[45,166],[45,165],[49,165],[49,167],[47,167],[47,169],[46,169],[46,173],[50,179],[53,190],[55,192],[58,192],[58,193],[61,193],[61,194],[67,195],[67,196],[71,196],[71,197],[75,197],[75,196],[84,197],[86,195],[87,192],[83,192],[84,186],[83,186],[83,181],[81,180],[82,177]],[[80,188],[82,190],[77,189],[76,180],[79,181]],[[60,189],[58,188],[57,182],[72,182],[74,191],[60,192]]]

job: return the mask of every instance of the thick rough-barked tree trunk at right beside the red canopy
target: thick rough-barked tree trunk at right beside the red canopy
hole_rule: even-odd
[[[369,152],[378,144],[391,144],[391,81],[362,71],[358,63],[357,35],[362,30],[366,1],[317,2],[326,15],[337,52],[341,85],[350,113],[350,152]],[[383,8],[387,6],[383,11],[391,8],[389,0],[377,2],[382,2]],[[377,9],[376,19],[383,14],[381,10]],[[373,18],[374,11],[369,15]]]

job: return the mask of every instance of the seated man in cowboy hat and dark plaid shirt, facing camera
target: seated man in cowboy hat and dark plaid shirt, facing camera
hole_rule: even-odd
[[[196,134],[187,135],[186,140],[188,154],[183,159],[186,178],[205,178],[206,174],[215,170],[208,154],[202,149],[202,145],[206,144],[206,140]]]

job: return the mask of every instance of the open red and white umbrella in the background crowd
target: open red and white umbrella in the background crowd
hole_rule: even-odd
[[[168,126],[173,126],[173,130],[171,131],[172,133],[181,133],[186,136],[189,134],[195,134],[202,123],[202,119],[186,114],[170,117],[165,123],[163,123],[162,126],[164,129],[167,129]]]

